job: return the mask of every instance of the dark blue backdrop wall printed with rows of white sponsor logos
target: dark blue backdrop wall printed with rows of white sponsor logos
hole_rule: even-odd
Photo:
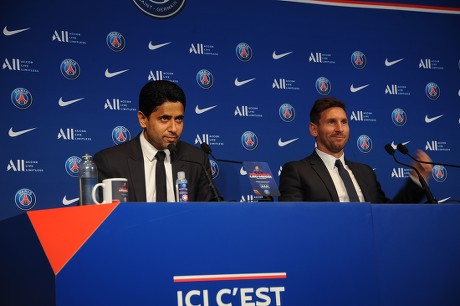
[[[115,133],[140,132],[138,93],[156,79],[187,94],[185,141],[207,142],[219,159],[266,161],[277,182],[285,162],[312,152],[308,112],[326,95],[348,105],[346,156],[370,164],[388,196],[408,169],[387,155],[387,143],[458,163],[457,1],[315,3],[196,0],[170,18],[132,0],[2,4],[0,218],[76,205],[81,156],[118,144]],[[410,10],[417,5],[449,9]],[[120,44],[111,48],[114,38]],[[78,77],[61,71],[69,63]],[[208,88],[197,82],[203,70],[212,75]],[[246,132],[253,146],[243,146]],[[257,200],[244,169],[218,162],[213,170],[226,200]],[[458,169],[436,168],[433,194],[457,201],[459,179]]]

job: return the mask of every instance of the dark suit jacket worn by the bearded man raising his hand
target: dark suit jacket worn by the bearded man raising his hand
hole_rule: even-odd
[[[393,199],[388,199],[371,167],[345,159],[353,171],[366,202],[370,203],[419,203],[423,189],[408,179]],[[329,171],[316,153],[303,160],[288,162],[280,175],[279,201],[339,202],[339,196]]]

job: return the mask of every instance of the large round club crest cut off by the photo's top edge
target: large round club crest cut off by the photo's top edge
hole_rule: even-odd
[[[144,13],[155,18],[168,18],[179,13],[185,0],[133,0],[134,4]]]

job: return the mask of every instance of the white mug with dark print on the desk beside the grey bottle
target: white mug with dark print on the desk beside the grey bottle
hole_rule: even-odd
[[[102,202],[97,201],[96,192],[102,187]],[[128,202],[128,180],[125,178],[105,179],[102,183],[94,185],[92,192],[93,201],[96,204],[107,204],[113,202]]]

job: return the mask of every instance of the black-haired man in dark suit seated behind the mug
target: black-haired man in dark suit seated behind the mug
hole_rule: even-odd
[[[121,177],[128,179],[129,202],[158,202],[157,153],[163,151],[166,199],[177,199],[177,172],[184,171],[188,180],[189,201],[216,200],[203,169],[211,167],[208,156],[199,148],[180,140],[184,128],[186,98],[173,82],[159,80],[144,85],[139,94],[138,120],[143,131],[134,139],[94,155],[99,180]],[[175,145],[170,152],[168,146]],[[160,161],[161,162],[161,161]],[[160,180],[158,180],[160,181]],[[163,180],[162,180],[163,181]]]

